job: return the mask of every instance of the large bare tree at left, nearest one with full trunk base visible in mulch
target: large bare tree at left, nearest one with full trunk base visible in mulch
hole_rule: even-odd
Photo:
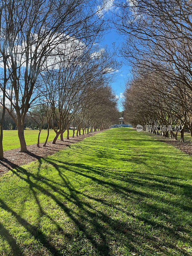
[[[1,27],[9,28],[8,38],[2,39],[9,56],[6,65],[11,78],[6,83],[5,96],[10,102],[6,109],[17,125],[21,152],[27,151],[23,132],[25,116],[41,92],[36,80],[45,64],[52,65],[51,59],[62,44],[82,38],[90,40],[100,34],[103,21],[95,15],[94,2],[87,5],[89,10],[85,10],[85,3],[83,0],[6,1],[6,10],[1,15]]]

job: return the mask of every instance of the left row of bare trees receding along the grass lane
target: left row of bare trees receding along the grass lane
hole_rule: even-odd
[[[95,6],[94,0],[1,1],[0,158],[5,111],[17,126],[21,152],[27,151],[27,116],[38,124],[39,135],[46,119],[47,136],[50,127],[55,131],[53,143],[71,124],[77,134],[86,127],[108,128],[116,119],[108,84],[118,64],[114,51],[99,47],[106,21]]]

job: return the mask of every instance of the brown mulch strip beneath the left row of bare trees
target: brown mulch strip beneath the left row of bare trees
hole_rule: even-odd
[[[29,164],[45,156],[53,155],[55,152],[67,148],[71,144],[77,143],[81,140],[84,140],[84,138],[93,136],[99,132],[79,135],[78,137],[74,138],[69,137],[69,140],[64,138],[64,141],[57,140],[56,144],[52,144],[52,141],[48,141],[46,147],[43,147],[44,143],[40,143],[39,148],[36,146],[36,144],[29,145],[27,146],[27,153],[19,152],[20,148],[4,151],[4,159],[0,161],[0,176],[13,168],[17,168],[20,165]]]

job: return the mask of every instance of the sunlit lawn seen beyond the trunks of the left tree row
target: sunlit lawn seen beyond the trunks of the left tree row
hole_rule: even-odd
[[[25,140],[27,145],[32,145],[37,143],[37,138],[38,138],[38,130],[24,130],[25,134]],[[70,136],[73,135],[73,131],[69,130]],[[63,137],[67,136],[67,131],[63,133]],[[40,135],[40,143],[44,142],[47,137],[47,130],[42,130],[41,135]],[[53,130],[49,131],[49,140],[53,140],[55,137],[55,132]],[[4,150],[9,150],[13,148],[19,148],[20,147],[20,142],[18,138],[18,132],[17,130],[11,130],[11,131],[3,131],[3,148]]]

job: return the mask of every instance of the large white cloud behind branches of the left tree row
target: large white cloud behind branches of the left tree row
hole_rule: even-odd
[[[28,66],[33,65],[34,61],[41,60],[43,64],[43,68],[52,68],[54,66],[55,69],[58,69],[60,66],[60,62],[65,59],[67,62],[72,56],[80,56],[83,53],[83,49],[85,45],[82,41],[79,41],[75,37],[67,36],[66,34],[58,35],[54,34],[50,38],[47,36],[41,45],[37,47],[37,35],[31,35],[31,48],[29,48],[29,63]],[[61,42],[61,43],[59,43]],[[45,54],[45,56],[41,59],[40,57],[34,58],[34,52],[36,51],[39,56],[42,56],[43,49],[47,49],[49,52]],[[20,45],[15,45],[13,53],[16,55],[18,66],[26,67],[27,57],[26,54],[26,45],[25,42],[22,42]],[[9,52],[7,52],[9,54]],[[34,58],[34,59],[33,59]],[[11,59],[8,59],[11,62]],[[0,60],[0,68],[3,68],[3,62]]]

